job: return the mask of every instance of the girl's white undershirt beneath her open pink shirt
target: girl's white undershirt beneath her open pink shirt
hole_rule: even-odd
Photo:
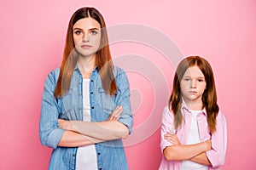
[[[191,117],[191,126],[189,129],[189,139],[187,141],[187,144],[198,144],[201,142],[200,136],[199,136],[199,130],[197,125],[196,116],[201,113],[202,111],[191,111],[192,117]],[[182,161],[180,170],[207,170],[208,166],[202,165],[199,163],[195,163],[195,161]]]

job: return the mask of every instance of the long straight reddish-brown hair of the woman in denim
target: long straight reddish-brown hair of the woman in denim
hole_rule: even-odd
[[[102,78],[102,87],[105,92],[113,95],[117,90],[117,85],[113,77],[113,61],[108,45],[108,34],[102,14],[96,8],[79,8],[71,17],[68,28],[66,44],[61,63],[61,71],[55,88],[55,97],[62,97],[69,91],[73,69],[77,65],[78,52],[74,49],[73,25],[80,19],[93,18],[101,25],[102,38],[99,50],[96,52],[96,66]]]

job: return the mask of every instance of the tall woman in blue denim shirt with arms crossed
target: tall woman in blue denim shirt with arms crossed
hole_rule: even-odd
[[[113,66],[106,25],[96,8],[69,21],[61,69],[44,85],[41,143],[49,169],[128,169],[122,140],[133,123],[129,82]]]

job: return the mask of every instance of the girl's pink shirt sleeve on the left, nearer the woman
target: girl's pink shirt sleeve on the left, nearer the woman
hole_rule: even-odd
[[[171,111],[169,111],[168,107],[166,106],[163,114],[162,114],[162,124],[161,124],[161,132],[160,132],[160,150],[161,153],[163,154],[163,150],[167,146],[171,146],[172,143],[168,142],[165,138],[164,135],[167,132],[173,132],[174,130],[174,125],[173,125],[173,114]]]

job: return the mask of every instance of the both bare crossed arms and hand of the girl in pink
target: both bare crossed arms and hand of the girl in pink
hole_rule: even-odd
[[[211,140],[198,144],[180,144],[176,134],[166,133],[165,139],[173,145],[167,146],[164,150],[164,156],[168,161],[195,161],[196,163],[212,166],[207,158],[207,150],[212,149]]]

